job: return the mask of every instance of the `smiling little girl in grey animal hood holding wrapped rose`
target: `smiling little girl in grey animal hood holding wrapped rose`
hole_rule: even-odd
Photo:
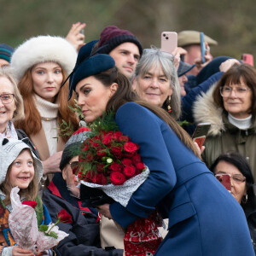
[[[38,183],[42,175],[42,162],[26,143],[15,139],[0,139],[0,255],[34,255],[30,250],[16,246],[9,230],[9,212],[12,212],[10,191],[18,186],[20,201],[36,201],[38,225],[49,224],[49,212],[38,197]],[[44,255],[49,253],[45,252]]]

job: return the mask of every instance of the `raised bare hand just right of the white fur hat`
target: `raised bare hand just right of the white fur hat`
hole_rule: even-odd
[[[70,31],[67,33],[67,41],[73,44],[77,51],[84,45],[85,36],[80,31],[84,29],[85,26],[85,23],[77,22],[72,25]]]

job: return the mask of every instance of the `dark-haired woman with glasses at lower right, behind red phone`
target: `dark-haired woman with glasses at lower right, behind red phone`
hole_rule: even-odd
[[[230,193],[241,204],[245,212],[256,253],[256,196],[253,191],[253,173],[247,160],[236,152],[220,154],[210,170],[220,182],[223,182],[224,175],[229,176]]]

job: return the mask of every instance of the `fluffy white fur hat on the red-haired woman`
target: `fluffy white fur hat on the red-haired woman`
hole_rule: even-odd
[[[76,60],[77,51],[65,38],[38,36],[26,40],[15,49],[11,57],[11,67],[19,81],[27,69],[45,61],[55,61],[69,75]]]

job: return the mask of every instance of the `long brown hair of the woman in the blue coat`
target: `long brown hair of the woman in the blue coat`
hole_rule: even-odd
[[[105,72],[94,75],[94,77],[101,81],[103,85],[110,86],[113,83],[119,84],[118,89],[115,94],[108,101],[106,112],[114,111],[116,112],[119,107],[121,107],[126,102],[136,102],[137,104],[148,108],[150,111],[155,113],[160,119],[163,119],[166,124],[168,124],[172,130],[177,134],[177,137],[188,147],[191,148],[195,155],[200,157],[195,144],[189,137],[189,134],[180,127],[175,119],[173,119],[166,110],[154,106],[148,102],[140,100],[138,96],[131,90],[131,83],[125,77],[124,74],[120,73],[116,67],[113,67]]]

